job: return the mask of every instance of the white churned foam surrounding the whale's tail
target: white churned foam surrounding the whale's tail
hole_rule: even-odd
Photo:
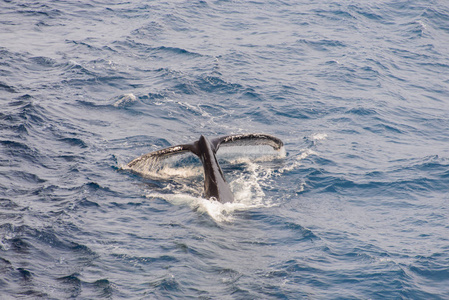
[[[275,206],[276,202],[265,194],[263,187],[269,185],[273,176],[279,176],[283,172],[297,168],[301,165],[302,159],[315,154],[315,152],[304,149],[297,157],[289,160],[290,164],[279,168],[279,162],[275,162],[276,165],[272,167],[269,163],[264,162],[285,157],[285,148],[274,151],[271,147],[268,147],[268,150],[265,146],[238,146],[220,149],[220,158],[223,159],[224,157],[225,160],[233,164],[242,164],[244,168],[241,172],[227,174],[228,180],[234,177],[229,182],[234,194],[234,202],[232,203],[221,203],[199,196],[203,189],[202,178],[199,180],[203,176],[201,165],[175,167],[173,164],[162,163],[162,166],[155,168],[155,165],[161,163],[160,161],[153,161],[146,166],[144,175],[162,179],[176,180],[176,178],[180,178],[180,180],[168,184],[164,188],[167,193],[150,192],[147,197],[162,198],[174,205],[188,205],[200,213],[207,213],[216,222],[232,222],[236,211]],[[193,177],[197,178],[195,184],[192,184],[191,180],[185,180],[185,178]],[[304,185],[300,189],[303,190]]]

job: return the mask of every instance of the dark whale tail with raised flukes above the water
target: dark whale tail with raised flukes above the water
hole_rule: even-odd
[[[262,133],[226,135],[212,140],[202,135],[198,141],[191,144],[172,146],[144,154],[128,163],[127,167],[137,173],[144,173],[160,159],[185,152],[192,152],[203,163],[204,196],[206,198],[215,198],[222,203],[233,202],[234,195],[218,164],[216,153],[220,146],[248,145],[267,145],[271,146],[274,150],[280,150],[284,143],[277,137]]]

